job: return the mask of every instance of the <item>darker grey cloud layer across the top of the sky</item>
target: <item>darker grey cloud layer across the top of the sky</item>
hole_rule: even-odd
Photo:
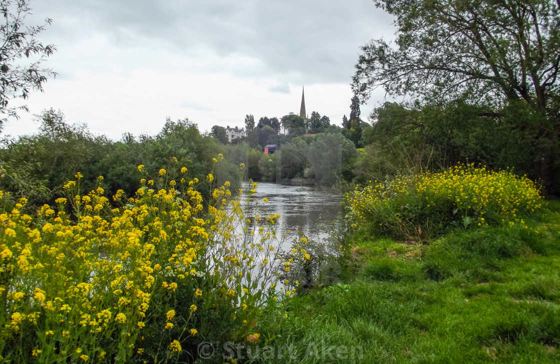
[[[265,65],[237,65],[233,73],[282,75],[296,84],[349,82],[360,46],[393,34],[392,18],[370,0],[52,0],[32,6],[36,16],[60,21],[49,35],[55,44],[101,33],[120,47],[150,40],[187,56],[206,47]]]

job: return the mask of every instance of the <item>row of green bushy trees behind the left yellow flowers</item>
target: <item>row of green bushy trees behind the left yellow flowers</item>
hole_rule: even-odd
[[[62,113],[53,110],[45,111],[40,122],[38,134],[12,140],[0,150],[0,168],[4,171],[0,189],[21,189],[35,204],[52,203],[50,199],[62,196],[62,186],[75,179],[76,172],[84,176],[80,182],[83,193],[96,186],[97,176],[104,176],[107,193],[122,189],[128,196],[134,196],[143,177],[137,169],[139,164],[144,164],[151,176],[165,168],[166,176],[176,180],[183,166],[188,168],[190,177],[200,181],[214,169],[216,183],[230,181],[234,188],[240,177],[239,163],[228,159],[231,153],[227,148],[231,146],[200,135],[197,125],[188,119],[168,118],[156,136],[134,138],[124,134],[116,142],[90,133],[85,125],[68,124]],[[218,153],[226,156],[219,168],[212,161]],[[201,182],[200,190],[208,196],[209,185]]]

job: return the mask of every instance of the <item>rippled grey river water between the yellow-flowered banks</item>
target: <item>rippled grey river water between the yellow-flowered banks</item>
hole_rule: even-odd
[[[249,190],[248,183],[243,186]],[[278,237],[287,235],[281,248],[289,247],[291,241],[297,237],[296,230],[301,230],[306,236],[317,242],[328,237],[323,230],[325,224],[337,219],[342,211],[342,193],[337,191],[321,191],[314,186],[281,185],[279,183],[259,182],[255,194],[248,205],[249,215],[256,208],[266,207],[268,213],[280,214],[276,223]],[[268,203],[263,205],[263,198]],[[259,204],[259,207],[256,205]],[[287,245],[287,246],[286,246]]]

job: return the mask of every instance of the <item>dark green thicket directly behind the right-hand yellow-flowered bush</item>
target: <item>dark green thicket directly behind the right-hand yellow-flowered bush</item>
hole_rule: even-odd
[[[464,102],[445,105],[386,102],[375,108],[371,128],[363,129],[365,154],[358,160],[360,182],[383,180],[410,169],[439,169],[456,162],[481,163],[493,169],[515,167],[530,173],[538,119],[528,105],[518,103],[494,115],[488,106]],[[520,128],[519,120],[535,127]],[[365,125],[365,124],[362,124]]]

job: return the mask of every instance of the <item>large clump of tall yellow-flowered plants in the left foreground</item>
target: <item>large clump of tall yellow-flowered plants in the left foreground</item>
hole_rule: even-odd
[[[204,202],[198,179],[181,172],[175,181],[161,169],[135,197],[119,190],[112,206],[102,177],[82,195],[78,173],[67,198],[35,217],[22,212],[26,198],[11,205],[0,192],[3,361],[185,362],[196,359],[199,337],[251,332],[274,295],[265,282],[277,278],[270,241],[279,216],[245,216],[229,182]],[[263,234],[243,228],[250,219]]]

